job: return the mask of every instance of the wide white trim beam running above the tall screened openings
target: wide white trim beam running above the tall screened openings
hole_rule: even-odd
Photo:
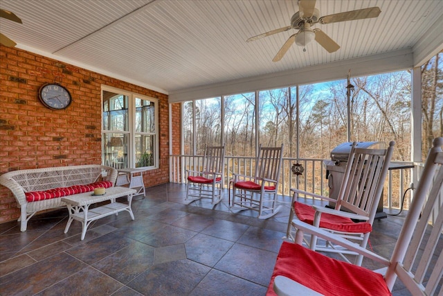
[[[293,71],[284,71],[264,76],[255,76],[253,78],[204,85],[202,87],[181,89],[178,92],[170,92],[169,102],[176,103],[230,94],[255,92],[263,89],[275,89],[278,87],[345,79],[347,78],[349,69],[351,70],[352,76],[365,76],[411,68],[413,68],[413,52],[411,49],[402,49],[379,55],[369,55],[363,58],[305,67]]]

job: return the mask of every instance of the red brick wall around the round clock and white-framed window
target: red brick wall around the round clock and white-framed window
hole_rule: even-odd
[[[50,110],[39,87],[58,82],[71,93],[65,110]],[[159,169],[144,173],[146,186],[169,181],[168,96],[71,64],[0,45],[0,174],[26,168],[100,164],[100,86],[159,99]],[[12,193],[0,186],[0,223],[19,217]]]

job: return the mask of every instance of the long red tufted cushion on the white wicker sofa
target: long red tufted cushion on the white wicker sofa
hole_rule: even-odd
[[[61,198],[62,196],[66,195],[90,192],[99,187],[109,188],[111,186],[112,182],[100,181],[92,184],[73,185],[69,187],[48,189],[46,191],[30,191],[26,192],[25,196],[28,202],[37,202],[39,200],[50,200],[51,198]]]

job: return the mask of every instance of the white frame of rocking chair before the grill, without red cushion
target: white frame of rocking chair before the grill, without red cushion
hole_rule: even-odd
[[[297,232],[295,221],[298,220],[298,217],[294,213],[293,205],[297,200],[302,202],[303,198],[300,198],[300,195],[304,195],[305,197],[310,196],[318,200],[334,202],[336,204],[334,209],[318,205],[312,206],[316,211],[313,223],[315,227],[319,227],[322,213],[366,221],[372,225],[375,214],[377,214],[377,206],[383,192],[383,184],[386,180],[394,146],[395,142],[391,141],[387,149],[359,148],[358,143],[354,142],[337,200],[307,191],[291,189],[291,191],[293,191],[293,199],[291,202],[286,237],[290,241],[294,241],[294,232]],[[362,182],[363,180],[365,180],[365,182]],[[349,212],[341,211],[343,208]],[[352,233],[339,232],[332,229],[325,230],[358,242],[361,247],[366,247],[370,236],[370,232]],[[310,234],[310,240],[305,239],[305,243],[311,250],[336,253],[347,262],[350,262],[350,259],[348,259],[346,255],[356,255],[355,261],[353,262],[356,265],[361,265],[363,260],[362,255],[356,254],[356,252],[351,250],[346,250],[341,246],[335,246],[330,241],[325,241],[325,245],[318,244],[317,236],[314,234]]]

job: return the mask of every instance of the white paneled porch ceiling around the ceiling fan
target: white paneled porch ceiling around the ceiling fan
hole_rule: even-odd
[[[0,31],[20,49],[166,94],[395,51],[422,58],[442,49],[442,0],[316,1],[320,16],[372,6],[381,8],[379,17],[314,26],[341,46],[338,51],[312,42],[303,52],[293,44],[280,62],[272,59],[296,30],[246,39],[289,26],[297,1],[1,0],[0,8],[23,24],[0,18]]]

